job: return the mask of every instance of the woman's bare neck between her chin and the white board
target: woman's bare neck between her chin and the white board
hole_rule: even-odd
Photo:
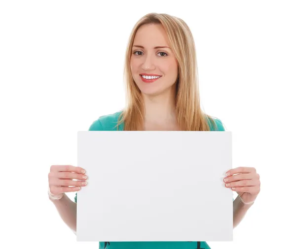
[[[143,95],[146,123],[166,123],[176,121],[175,94],[168,91],[162,95]]]

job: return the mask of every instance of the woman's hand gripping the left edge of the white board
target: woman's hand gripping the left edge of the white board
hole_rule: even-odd
[[[80,187],[84,187],[86,179],[85,170],[81,167],[51,165],[50,172],[48,173],[49,192],[54,197],[61,198],[65,192],[75,192],[80,190]]]

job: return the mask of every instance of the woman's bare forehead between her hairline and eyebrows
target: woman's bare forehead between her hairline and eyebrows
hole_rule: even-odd
[[[133,45],[152,48],[156,46],[169,46],[169,41],[161,24],[145,24],[137,30]]]

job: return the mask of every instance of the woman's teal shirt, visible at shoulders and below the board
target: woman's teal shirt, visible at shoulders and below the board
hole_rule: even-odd
[[[99,117],[90,125],[89,130],[117,130],[117,121],[121,112],[116,112],[110,115]],[[215,119],[217,125],[214,127],[209,122],[212,131],[224,131],[221,120]],[[118,130],[123,130],[123,124],[120,124]],[[77,203],[77,193],[74,201]],[[209,245],[204,242],[99,242],[99,249],[211,249]]]

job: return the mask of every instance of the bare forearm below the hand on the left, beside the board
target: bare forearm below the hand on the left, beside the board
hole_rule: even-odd
[[[50,199],[50,198],[49,198]],[[73,202],[66,194],[59,200],[52,200],[58,210],[60,217],[63,221],[73,230],[76,234],[76,208],[77,204]]]

